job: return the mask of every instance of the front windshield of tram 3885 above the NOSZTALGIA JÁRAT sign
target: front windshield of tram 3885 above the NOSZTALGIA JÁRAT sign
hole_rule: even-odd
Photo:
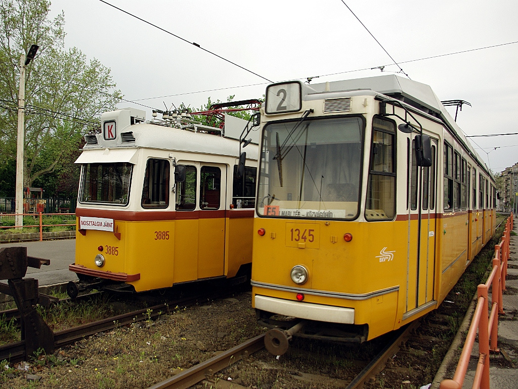
[[[133,164],[85,163],[80,202],[127,205]]]

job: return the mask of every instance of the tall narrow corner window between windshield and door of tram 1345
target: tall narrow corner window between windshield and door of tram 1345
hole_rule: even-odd
[[[372,120],[372,145],[367,183],[365,219],[392,220],[396,213],[395,170],[396,124],[375,117]]]

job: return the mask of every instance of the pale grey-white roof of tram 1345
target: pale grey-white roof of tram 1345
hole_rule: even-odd
[[[320,84],[311,84],[309,86],[303,85],[303,94],[326,92],[326,84],[327,83],[324,82]],[[429,85],[397,75],[385,75],[342,81],[330,81],[328,83],[328,88],[328,91],[330,92],[371,90],[396,98],[422,110],[425,113],[439,117],[445,124],[447,124],[453,132],[453,135],[457,136],[464,142],[464,145],[468,148],[468,151],[471,153],[473,158],[475,158],[487,172],[490,172],[485,162],[480,158],[477,151],[473,149],[473,146],[468,141],[466,135],[464,135],[461,128],[458,127],[458,124],[442,105],[441,101],[437,98],[437,95]]]

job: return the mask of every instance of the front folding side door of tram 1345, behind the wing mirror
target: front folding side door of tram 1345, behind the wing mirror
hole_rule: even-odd
[[[415,135],[414,135],[415,136]],[[407,309],[410,316],[434,302],[437,207],[437,141],[431,140],[432,164],[422,168],[411,141],[409,164],[409,233]]]

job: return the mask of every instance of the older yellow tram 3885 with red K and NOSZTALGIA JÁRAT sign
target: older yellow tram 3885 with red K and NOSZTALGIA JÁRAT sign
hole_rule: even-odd
[[[102,115],[101,133],[85,136],[69,266],[80,281],[68,284],[71,297],[249,279],[258,132],[240,152],[240,134],[253,123],[225,109],[209,114],[216,111],[224,126],[187,112],[146,122],[145,112],[120,109]]]

